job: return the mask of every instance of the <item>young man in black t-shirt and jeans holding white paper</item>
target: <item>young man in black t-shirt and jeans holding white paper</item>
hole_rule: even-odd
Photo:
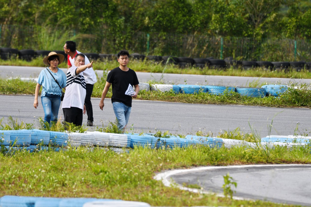
[[[136,98],[139,92],[139,82],[135,71],[128,68],[129,53],[121,50],[118,53],[119,67],[114,68],[108,73],[106,85],[101,95],[99,107],[104,108],[104,99],[107,95],[110,85],[112,84],[111,102],[114,108],[114,114],[118,119],[118,128],[125,130],[131,113],[132,98]],[[133,90],[133,85],[135,91]]]

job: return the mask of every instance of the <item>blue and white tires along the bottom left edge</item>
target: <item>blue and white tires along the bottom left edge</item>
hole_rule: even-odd
[[[0,207],[148,207],[148,203],[97,198],[49,198],[5,195]]]

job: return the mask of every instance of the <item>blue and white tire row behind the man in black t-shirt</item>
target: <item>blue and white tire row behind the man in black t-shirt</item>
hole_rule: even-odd
[[[236,92],[242,96],[249,97],[265,97],[265,96],[279,96],[288,90],[287,85],[263,85],[261,88],[253,87],[232,87],[219,85],[169,85],[169,84],[152,84],[140,83],[140,90],[153,91],[172,91],[175,94],[197,94],[209,93],[213,95],[223,95],[231,92]]]

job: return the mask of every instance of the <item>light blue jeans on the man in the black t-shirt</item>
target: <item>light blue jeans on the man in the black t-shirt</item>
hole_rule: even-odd
[[[112,106],[114,108],[114,114],[118,119],[118,128],[124,130],[128,124],[128,119],[130,117],[131,108],[121,102],[113,102]]]

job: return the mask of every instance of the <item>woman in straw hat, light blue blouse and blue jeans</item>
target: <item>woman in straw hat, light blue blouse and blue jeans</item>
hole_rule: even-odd
[[[48,65],[48,67],[40,72],[35,90],[34,107],[37,108],[39,90],[42,85],[41,103],[44,110],[44,122],[49,124],[51,121],[57,121],[62,90],[66,87],[66,74],[58,68],[58,65],[64,61],[64,58],[62,54],[50,52],[49,56],[43,59],[43,63]]]

